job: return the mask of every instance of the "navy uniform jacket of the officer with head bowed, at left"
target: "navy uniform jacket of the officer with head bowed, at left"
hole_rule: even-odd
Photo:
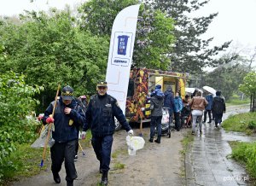
[[[46,119],[52,113],[54,108],[54,102],[49,104],[49,107],[44,112],[43,123],[46,124]],[[55,142],[69,142],[75,139],[78,139],[79,134],[76,126],[84,125],[84,113],[81,109],[78,111],[75,109],[77,108],[77,103],[72,100],[69,105],[65,105],[62,102],[62,99],[57,101],[56,108],[55,108],[55,131],[52,132],[52,136],[55,139]],[[65,114],[64,109],[71,108],[70,114]],[[69,125],[69,120],[73,119],[73,125]]]

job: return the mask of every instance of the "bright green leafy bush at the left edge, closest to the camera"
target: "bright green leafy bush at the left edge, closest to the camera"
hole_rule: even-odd
[[[37,137],[39,124],[26,116],[31,115],[38,104],[32,96],[43,88],[28,85],[24,79],[23,74],[0,73],[0,183],[7,170],[17,169],[9,160],[16,150],[15,143],[32,142]]]

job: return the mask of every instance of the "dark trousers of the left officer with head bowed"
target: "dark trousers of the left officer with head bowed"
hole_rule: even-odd
[[[77,140],[70,142],[55,142],[50,148],[51,171],[57,174],[61,171],[61,165],[65,160],[66,180],[73,181],[78,177],[73,157],[75,156],[75,145]]]

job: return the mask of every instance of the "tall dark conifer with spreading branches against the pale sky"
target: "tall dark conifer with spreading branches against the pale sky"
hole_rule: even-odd
[[[217,67],[214,55],[229,47],[230,42],[209,49],[212,38],[201,39],[201,34],[207,32],[207,27],[218,15],[189,17],[189,13],[200,9],[208,1],[200,0],[154,0],[144,1],[150,9],[160,9],[175,21],[174,36],[177,39],[173,49],[169,51],[172,61],[170,70],[187,73],[201,72],[203,67]]]

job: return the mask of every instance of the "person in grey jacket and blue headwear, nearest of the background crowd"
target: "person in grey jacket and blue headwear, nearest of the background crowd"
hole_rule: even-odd
[[[151,121],[150,121],[150,138],[149,142],[153,142],[155,127],[157,127],[157,139],[154,142],[160,143],[161,141],[161,120],[162,120],[162,108],[165,94],[161,91],[161,85],[156,84],[155,90],[151,94],[150,109]],[[144,110],[144,108],[143,108]]]

